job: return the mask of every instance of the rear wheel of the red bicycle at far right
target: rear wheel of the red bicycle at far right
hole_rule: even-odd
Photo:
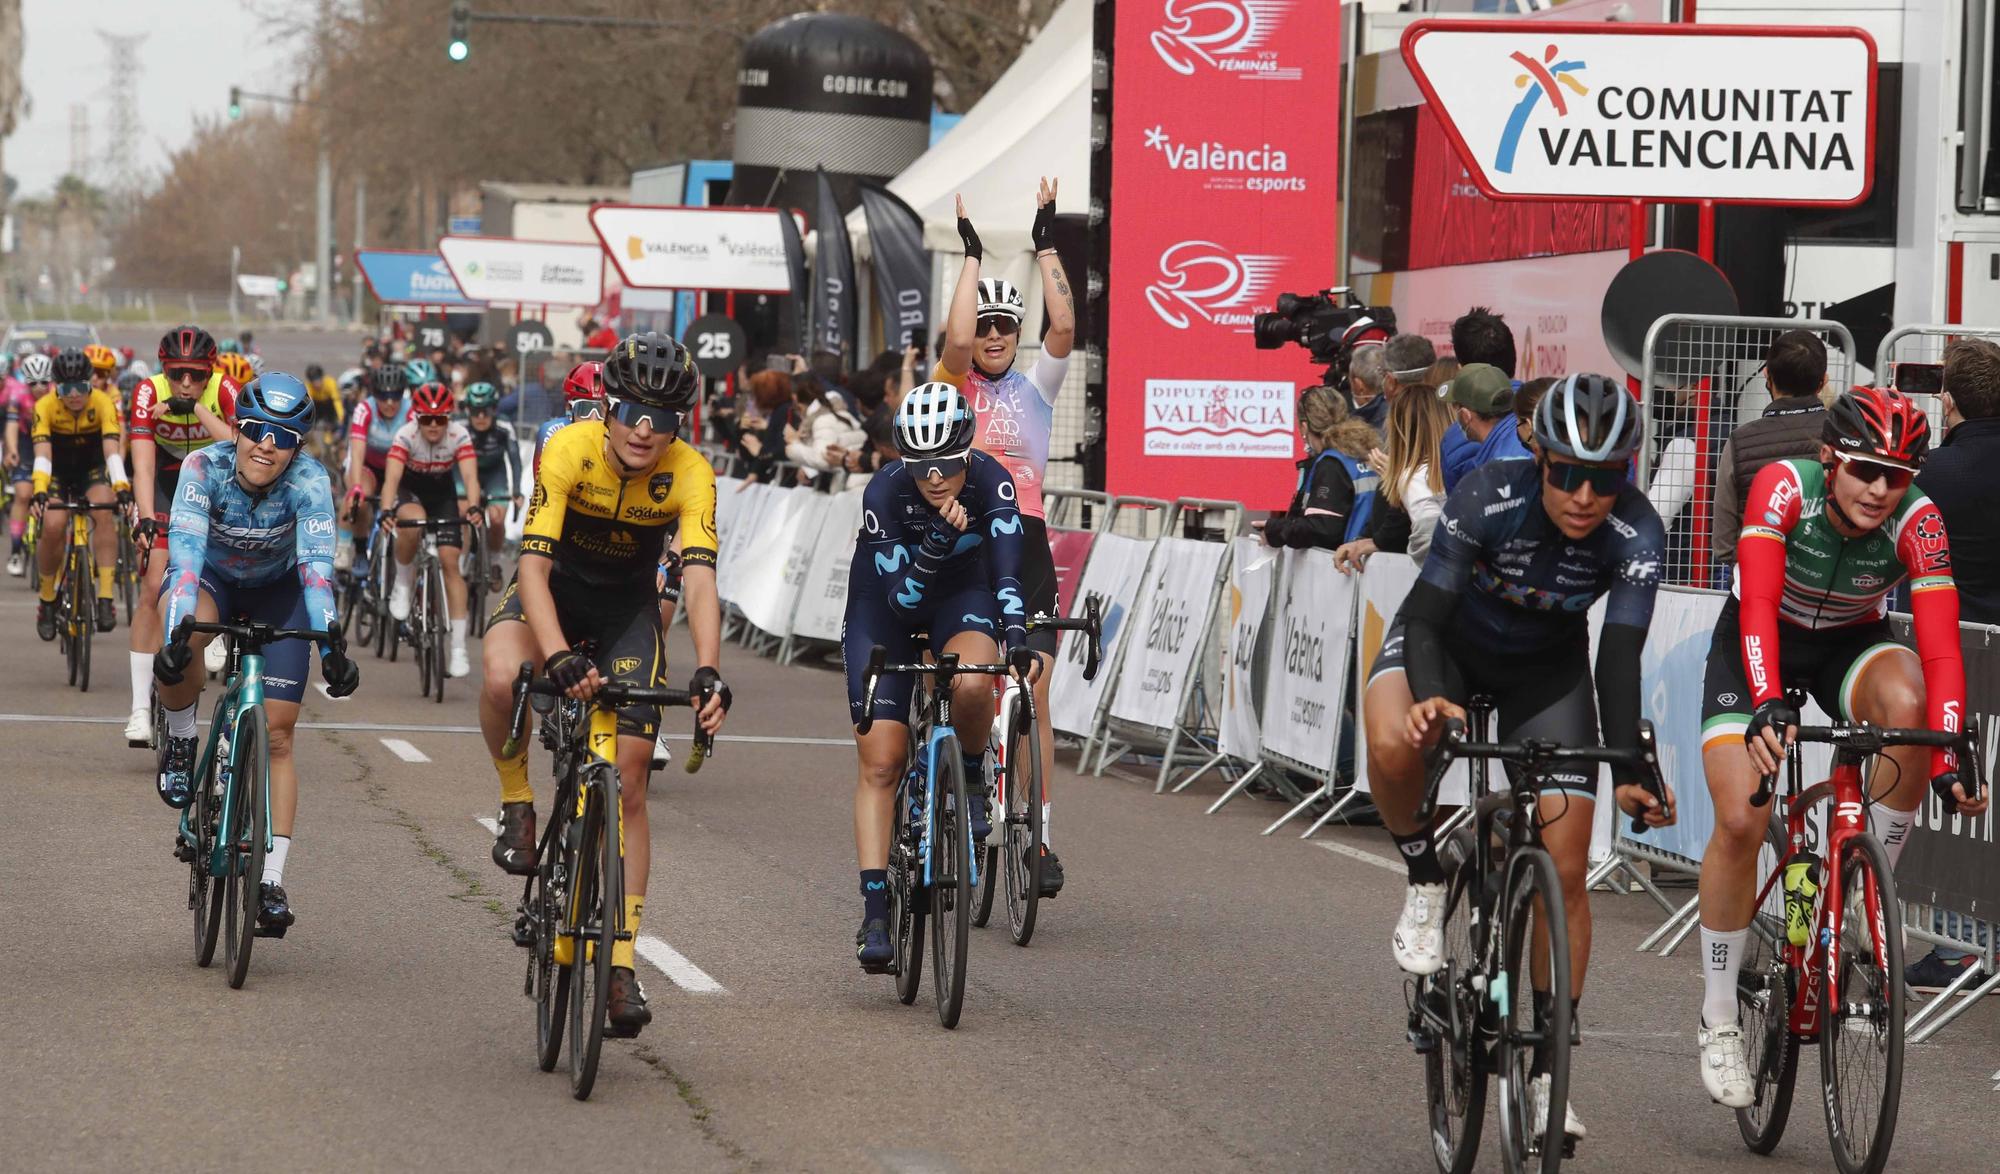
[[[1770,876],[1786,858],[1784,822],[1772,814],[1764,828],[1758,876]],[[1744,960],[1736,972],[1736,1022],[1744,1028],[1744,1052],[1756,1098],[1736,1110],[1744,1146],[1770,1154],[1784,1138],[1798,1084],[1798,1038],[1792,1036],[1792,992],[1798,980],[1786,962],[1784,886],[1774,884],[1764,908],[1750,918]]]

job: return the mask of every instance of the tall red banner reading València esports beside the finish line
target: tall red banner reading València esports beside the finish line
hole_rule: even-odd
[[[1250,322],[1338,280],[1338,4],[1120,0],[1114,40],[1108,488],[1284,508],[1314,364]]]

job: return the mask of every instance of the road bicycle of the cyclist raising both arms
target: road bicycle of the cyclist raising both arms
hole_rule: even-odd
[[[1084,680],[1096,680],[1104,652],[1102,602],[1092,592],[1084,596],[1084,614],[1074,620],[1034,614],[1030,632],[1082,632]],[[994,732],[988,750],[994,756],[992,800],[1000,812],[1000,842],[986,844],[986,864],[980,876],[980,896],[972,924],[984,928],[992,916],[994,892],[1006,898],[1008,934],[1016,946],[1034,938],[1034,918],[1042,900],[1042,828],[1048,818],[1048,794],[1042,790],[1042,714],[1034,706],[1034,688],[1016,676],[994,678]]]

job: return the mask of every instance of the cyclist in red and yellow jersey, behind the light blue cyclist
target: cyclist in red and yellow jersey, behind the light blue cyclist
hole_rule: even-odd
[[[142,552],[166,550],[166,522],[188,456],[228,440],[242,388],[216,370],[216,340],[200,326],[176,326],[160,338],[160,374],[132,396],[132,492],[138,500],[134,538]],[[152,656],[160,650],[160,582],[164,556],[142,554],[146,584],[132,612],[132,716],[126,744],[152,742]]]

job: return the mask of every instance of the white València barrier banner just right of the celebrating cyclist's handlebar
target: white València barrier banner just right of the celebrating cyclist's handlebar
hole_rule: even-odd
[[[1144,624],[1118,670],[1112,716],[1152,730],[1180,724],[1188,674],[1214,618],[1216,574],[1230,548],[1194,538],[1160,538],[1132,614]]]

